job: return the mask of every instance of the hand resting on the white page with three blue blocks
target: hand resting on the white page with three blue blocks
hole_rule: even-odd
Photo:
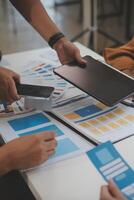
[[[5,148],[9,163],[8,171],[11,171],[27,169],[43,163],[54,153],[55,147],[55,134],[46,131],[17,138],[2,148]]]

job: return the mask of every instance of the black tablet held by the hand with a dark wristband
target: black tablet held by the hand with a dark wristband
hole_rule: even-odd
[[[71,62],[54,72],[107,106],[134,94],[134,79],[90,56],[86,65]]]

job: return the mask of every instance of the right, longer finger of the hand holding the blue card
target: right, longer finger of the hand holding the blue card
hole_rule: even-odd
[[[108,188],[113,197],[116,197],[117,199],[123,198],[123,194],[118,189],[118,187],[116,186],[116,184],[113,182],[112,179],[109,181]]]

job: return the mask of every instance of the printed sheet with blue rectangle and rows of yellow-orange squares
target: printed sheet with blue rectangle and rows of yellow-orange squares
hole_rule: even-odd
[[[122,104],[109,108],[84,93],[55,104],[53,113],[97,143],[134,134],[133,108]]]

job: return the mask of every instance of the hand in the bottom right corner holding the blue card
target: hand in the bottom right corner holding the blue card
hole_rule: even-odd
[[[108,186],[101,187],[100,200],[125,200],[115,183],[110,180]]]

